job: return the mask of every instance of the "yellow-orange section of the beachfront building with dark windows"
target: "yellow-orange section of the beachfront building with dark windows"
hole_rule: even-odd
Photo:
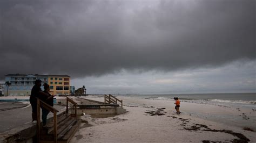
[[[49,75],[50,91],[52,95],[70,94],[70,76],[68,75]]]

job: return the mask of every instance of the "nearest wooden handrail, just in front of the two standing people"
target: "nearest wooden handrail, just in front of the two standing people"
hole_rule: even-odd
[[[57,109],[53,108],[52,106],[48,105],[47,103],[41,101],[41,99],[37,98],[37,142],[40,140],[40,131],[41,131],[41,122],[40,122],[40,106],[43,108],[51,111],[53,113],[53,138],[54,142],[57,142],[57,112],[59,112]]]

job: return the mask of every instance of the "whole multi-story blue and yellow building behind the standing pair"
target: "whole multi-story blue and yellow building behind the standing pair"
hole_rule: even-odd
[[[53,80],[54,79],[54,80]],[[56,80],[57,79],[57,80]],[[70,76],[68,75],[38,75],[38,74],[8,74],[5,75],[5,82],[11,83],[9,87],[5,86],[6,96],[29,96],[36,80],[50,85],[52,95],[69,95]],[[63,82],[61,82],[63,81]],[[57,82],[57,83],[56,83]],[[64,84],[65,83],[65,84]],[[68,88],[66,88],[68,87]],[[43,87],[41,87],[43,90]]]

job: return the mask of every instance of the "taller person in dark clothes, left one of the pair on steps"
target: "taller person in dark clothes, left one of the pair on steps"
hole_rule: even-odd
[[[35,85],[33,86],[31,90],[31,95],[29,98],[31,107],[32,107],[32,122],[37,123],[37,99],[36,97],[40,98],[41,96],[47,96],[45,92],[41,89],[42,81],[36,80]]]

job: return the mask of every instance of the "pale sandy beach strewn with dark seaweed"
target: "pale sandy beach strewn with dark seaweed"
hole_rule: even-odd
[[[84,98],[104,101],[100,96]],[[256,142],[256,111],[252,109],[181,100],[181,114],[176,115],[171,100],[118,98],[128,112],[108,118],[82,116],[71,142]]]

